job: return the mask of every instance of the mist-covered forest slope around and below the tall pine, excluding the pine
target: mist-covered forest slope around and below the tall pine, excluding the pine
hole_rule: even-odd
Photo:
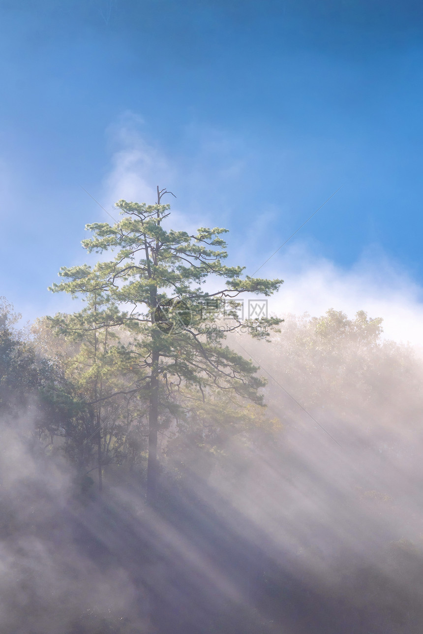
[[[99,437],[84,342],[0,312],[0,631],[422,631],[423,365],[381,317],[230,333],[266,406],[163,409],[148,502],[146,397],[104,401]]]

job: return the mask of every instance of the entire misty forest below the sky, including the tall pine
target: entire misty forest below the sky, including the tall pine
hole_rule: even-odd
[[[75,313],[1,299],[3,630],[420,633],[422,359],[365,311],[244,318],[282,280],[165,193],[87,226]]]

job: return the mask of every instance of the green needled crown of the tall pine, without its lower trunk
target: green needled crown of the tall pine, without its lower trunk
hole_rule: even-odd
[[[132,340],[132,356],[139,370],[151,370],[148,359],[153,348],[158,349],[159,373],[168,378],[168,384],[172,376],[173,389],[181,380],[201,386],[228,387],[231,384],[243,396],[258,399],[256,391],[263,382],[254,377],[256,368],[222,346],[229,327],[201,332],[205,323],[216,324],[219,316],[217,311],[205,314],[202,307],[212,297],[236,297],[243,292],[269,295],[279,288],[282,280],[249,277],[242,280],[243,268],[224,266],[226,244],[220,236],[226,230],[200,228],[196,235],[165,231],[161,221],[168,216],[169,205],[140,205],[120,200],[117,207],[125,214],[124,219],[115,226],[87,225],[94,236],[83,242],[88,252],[115,250],[114,259],[98,262],[94,268],[87,265],[62,268],[60,275],[66,281],[54,284],[52,290],[64,290],[85,298],[94,292],[101,294],[109,305],[107,323],[123,324],[136,335]],[[201,285],[210,275],[225,280],[224,290],[205,294]],[[163,332],[165,320],[161,315],[168,312],[168,306],[174,301],[183,302],[190,316],[189,323],[180,320],[177,332]],[[118,306],[130,306],[130,310],[119,312]],[[87,311],[73,318],[72,328],[74,332],[79,329],[80,336],[84,336],[85,330],[75,322],[86,316]],[[103,314],[92,314],[91,318],[98,330],[106,327]],[[268,334],[268,327],[280,321],[271,318],[249,321],[248,325],[251,330],[256,327],[256,336],[263,337]],[[61,332],[67,334],[70,330],[62,325]]]

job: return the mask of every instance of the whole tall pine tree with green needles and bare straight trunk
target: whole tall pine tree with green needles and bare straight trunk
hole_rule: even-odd
[[[244,326],[254,337],[267,337],[268,329],[281,321],[239,319],[234,302],[240,294],[268,296],[282,280],[251,278],[243,276],[241,266],[225,266],[225,229],[201,227],[195,235],[166,230],[163,224],[170,205],[161,204],[166,193],[157,188],[155,205],[120,200],[116,206],[123,219],[113,226],[88,224],[93,235],[82,245],[89,253],[109,252],[111,259],[93,267],[61,268],[64,280],[51,287],[53,292],[85,299],[98,293],[115,307],[113,323],[131,333],[125,349],[137,377],[136,389],[148,399],[149,500],[156,495],[157,436],[163,413],[177,415],[184,391],[189,398],[194,391],[203,400],[216,389],[232,391],[262,403],[264,381],[256,376],[258,368],[225,346],[225,335]],[[213,286],[220,280],[222,287],[206,292],[208,278]],[[94,324],[96,314],[90,312]],[[102,324],[100,318],[97,327]],[[113,398],[113,392],[109,396]]]

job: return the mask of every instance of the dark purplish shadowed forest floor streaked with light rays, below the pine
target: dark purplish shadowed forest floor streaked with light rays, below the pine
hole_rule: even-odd
[[[394,577],[364,557],[342,552],[329,552],[318,574],[301,553],[278,550],[206,484],[196,488],[193,493],[168,481],[154,510],[129,489],[92,495],[73,501],[73,508],[56,508],[48,522],[39,516],[22,526],[27,543],[30,533],[43,540],[46,563],[60,562],[66,552],[84,562],[82,582],[103,585],[105,604],[101,597],[91,598],[88,607],[70,616],[65,598],[53,617],[27,570],[27,584],[34,588],[11,621],[13,631],[41,632],[34,614],[42,612],[62,623],[63,634],[422,631],[423,559],[412,545],[395,545],[385,553]],[[6,542],[14,538],[9,535]],[[66,566],[72,564],[61,571],[72,602],[72,570],[66,573]],[[73,574],[78,581],[81,573]],[[17,610],[18,602],[9,608]]]

